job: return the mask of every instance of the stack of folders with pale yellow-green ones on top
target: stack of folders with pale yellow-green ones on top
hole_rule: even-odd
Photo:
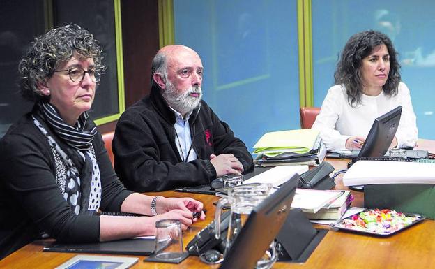
[[[318,165],[326,154],[319,131],[312,129],[266,133],[254,149],[258,154],[254,163],[258,166]]]

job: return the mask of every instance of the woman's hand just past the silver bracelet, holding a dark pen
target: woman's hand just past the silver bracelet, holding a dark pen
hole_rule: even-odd
[[[184,212],[187,212],[190,214],[190,219],[192,219],[193,222],[197,221],[197,218],[193,218],[194,212],[201,212],[204,208],[204,205],[196,201],[192,198],[164,198],[159,197],[156,201],[156,209],[158,214],[165,214],[165,212],[171,212],[171,210],[182,210]],[[201,212],[201,216],[199,219],[204,220],[206,219],[206,215],[204,212]]]

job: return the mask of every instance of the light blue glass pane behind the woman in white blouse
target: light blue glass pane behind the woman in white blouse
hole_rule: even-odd
[[[312,0],[314,105],[333,85],[335,64],[352,34],[376,29],[399,52],[402,81],[411,91],[419,138],[435,139],[435,2]],[[358,11],[356,11],[358,10]]]

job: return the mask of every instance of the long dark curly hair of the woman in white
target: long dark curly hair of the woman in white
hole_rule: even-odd
[[[397,61],[397,52],[386,34],[379,31],[363,31],[354,34],[349,38],[342,52],[334,73],[335,85],[344,85],[346,94],[351,106],[357,106],[361,102],[363,93],[363,80],[361,78],[361,67],[363,59],[367,57],[374,48],[379,45],[386,45],[390,54],[390,73],[383,92],[388,95],[397,94],[397,87],[400,82],[400,64]]]

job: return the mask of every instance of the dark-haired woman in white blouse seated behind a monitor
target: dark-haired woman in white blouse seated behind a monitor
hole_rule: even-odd
[[[312,129],[328,150],[358,150],[374,119],[402,106],[391,147],[414,147],[418,138],[409,89],[400,81],[399,63],[390,38],[379,31],[351,36],[334,73]]]

